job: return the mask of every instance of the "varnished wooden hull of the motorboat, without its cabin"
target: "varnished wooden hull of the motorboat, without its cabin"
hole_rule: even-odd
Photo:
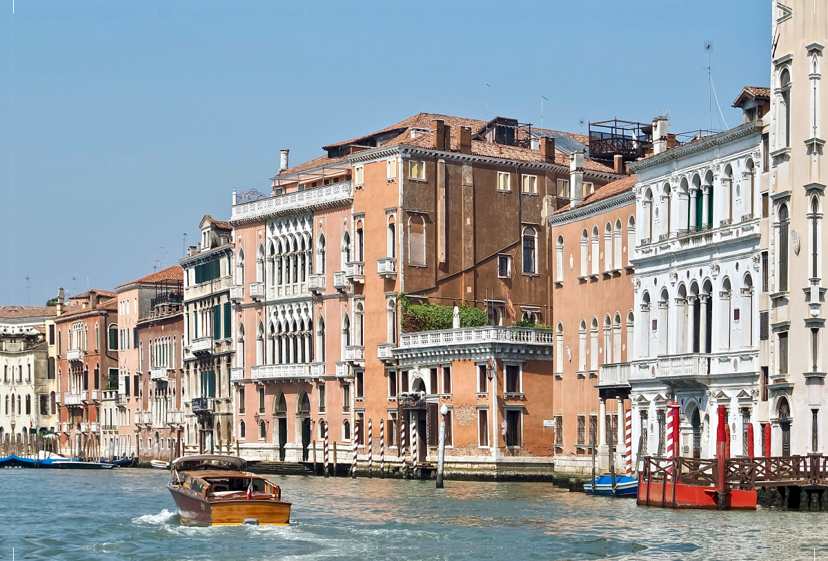
[[[242,525],[245,519],[256,519],[259,525],[288,525],[291,503],[285,501],[206,501],[187,489],[167,486],[176,501],[181,524],[187,526]]]

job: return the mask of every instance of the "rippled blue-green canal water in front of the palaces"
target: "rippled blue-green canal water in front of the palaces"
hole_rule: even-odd
[[[167,477],[0,469],[0,560],[828,559],[819,512],[641,508],[547,483],[273,476],[291,526],[187,528]]]

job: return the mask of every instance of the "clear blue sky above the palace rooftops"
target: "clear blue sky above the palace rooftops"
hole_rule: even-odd
[[[482,119],[487,83],[489,117],[539,126],[544,96],[546,128],[665,110],[672,132],[707,128],[710,41],[733,127],[742,86],[768,84],[770,12],[768,0],[17,0],[12,15],[2,0],[0,304],[111,290],[165,252],[172,265],[205,213],[229,218],[233,188],[268,188],[280,148],[296,165],[421,111]]]

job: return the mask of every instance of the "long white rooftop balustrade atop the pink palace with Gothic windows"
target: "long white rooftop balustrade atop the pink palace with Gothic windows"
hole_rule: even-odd
[[[243,199],[243,194],[234,195],[234,197],[234,201]],[[230,220],[238,223],[255,222],[263,218],[296,213],[298,210],[304,212],[327,209],[339,204],[348,204],[352,199],[354,199],[354,184],[351,180],[340,181],[304,191],[277,194],[251,202],[233,204]]]

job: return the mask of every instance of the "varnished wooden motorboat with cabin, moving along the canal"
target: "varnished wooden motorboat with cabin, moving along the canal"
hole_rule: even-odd
[[[242,458],[197,455],[177,458],[171,466],[170,490],[181,524],[288,525],[291,503],[264,477],[245,471]]]

